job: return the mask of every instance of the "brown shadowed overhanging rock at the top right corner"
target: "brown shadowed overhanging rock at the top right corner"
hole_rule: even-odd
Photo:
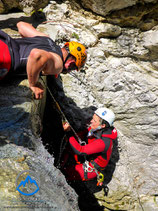
[[[106,17],[106,20],[113,24],[148,30],[158,23],[156,0],[82,0],[81,3],[85,8]]]

